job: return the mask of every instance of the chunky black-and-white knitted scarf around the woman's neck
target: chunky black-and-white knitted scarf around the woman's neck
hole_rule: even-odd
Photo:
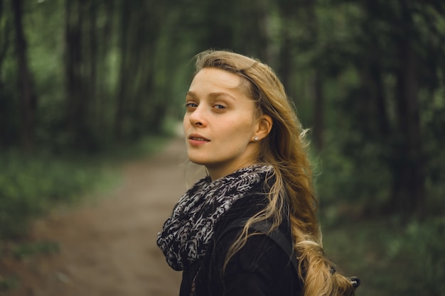
[[[196,182],[179,199],[158,234],[157,243],[168,265],[174,270],[186,270],[202,258],[220,217],[238,199],[261,190],[258,186],[271,172],[269,165],[254,165],[213,182],[210,177]]]

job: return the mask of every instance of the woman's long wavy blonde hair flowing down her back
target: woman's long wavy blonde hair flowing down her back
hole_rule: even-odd
[[[195,65],[196,73],[212,67],[242,77],[242,87],[257,102],[257,112],[267,114],[273,120],[272,130],[260,143],[257,159],[259,163],[267,163],[274,168],[269,204],[247,221],[241,236],[227,252],[226,264],[244,246],[252,224],[272,219],[273,227],[277,227],[288,211],[294,249],[299,260],[299,277],[304,283],[303,295],[353,295],[350,280],[339,273],[332,273],[333,264],[323,254],[316,217],[318,203],[314,196],[304,138],[306,131],[301,127],[294,106],[277,75],[259,60],[222,50],[207,50],[198,54]]]

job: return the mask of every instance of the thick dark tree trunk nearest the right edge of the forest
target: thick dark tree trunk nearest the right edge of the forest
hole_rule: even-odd
[[[406,3],[402,1],[404,26],[412,26]],[[420,111],[414,48],[408,36],[398,40],[397,119],[400,138],[394,147],[393,207],[412,214],[424,214],[424,158],[420,134]]]

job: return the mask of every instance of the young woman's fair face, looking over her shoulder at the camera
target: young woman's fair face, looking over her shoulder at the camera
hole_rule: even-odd
[[[187,92],[183,126],[188,158],[205,165],[213,180],[255,163],[258,119],[241,82],[231,72],[204,68]]]

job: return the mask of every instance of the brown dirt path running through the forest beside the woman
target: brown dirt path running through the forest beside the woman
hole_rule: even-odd
[[[111,197],[38,221],[33,237],[58,241],[60,252],[11,260],[23,285],[6,295],[178,295],[181,273],[166,264],[156,234],[186,189],[185,157],[177,138],[159,155],[125,165]]]

